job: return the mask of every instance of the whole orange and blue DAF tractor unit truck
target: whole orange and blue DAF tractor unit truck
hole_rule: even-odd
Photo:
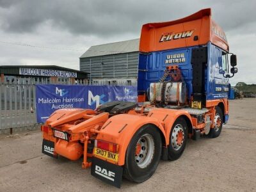
[[[179,159],[188,139],[220,136],[236,65],[210,8],[144,24],[138,102],[58,109],[41,127],[42,152],[72,161],[83,156],[83,168],[91,167],[94,177],[118,188],[122,177],[144,182],[160,159]]]

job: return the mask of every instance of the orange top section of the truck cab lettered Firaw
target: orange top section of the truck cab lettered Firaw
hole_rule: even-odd
[[[212,42],[225,51],[229,49],[223,29],[211,19],[210,8],[182,19],[143,25],[140,52],[205,45],[207,42]]]

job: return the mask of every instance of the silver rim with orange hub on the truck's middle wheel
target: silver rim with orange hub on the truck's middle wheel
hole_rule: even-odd
[[[184,127],[177,124],[172,131],[172,147],[174,150],[179,150],[184,143]]]

